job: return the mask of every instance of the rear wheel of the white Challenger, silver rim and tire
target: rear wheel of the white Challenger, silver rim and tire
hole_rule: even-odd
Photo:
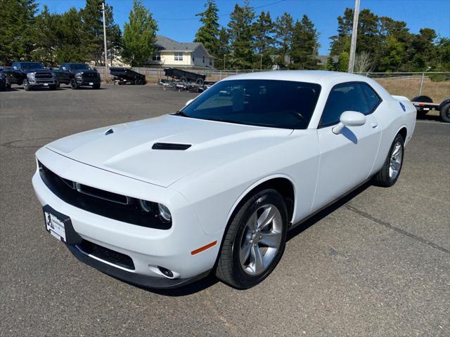
[[[374,177],[375,185],[391,187],[397,182],[400,176],[401,166],[403,166],[404,139],[400,134],[395,136],[385,164]]]

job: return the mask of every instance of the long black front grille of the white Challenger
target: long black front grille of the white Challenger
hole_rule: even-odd
[[[76,183],[58,176],[40,162],[38,164],[39,175],[46,187],[72,206],[131,225],[158,230],[172,227],[172,222],[162,222],[155,213],[143,211],[138,199]]]

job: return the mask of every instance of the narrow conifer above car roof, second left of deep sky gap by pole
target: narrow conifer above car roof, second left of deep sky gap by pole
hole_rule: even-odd
[[[275,39],[278,55],[275,62],[280,67],[285,67],[290,61],[286,62],[286,56],[290,53],[293,37],[293,17],[285,12],[281,17],[275,20]]]

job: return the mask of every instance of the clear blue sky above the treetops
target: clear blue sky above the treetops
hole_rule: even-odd
[[[70,7],[81,8],[85,0],[37,0],[42,7],[49,6],[50,11],[61,13]],[[114,8],[115,22],[123,28],[128,20],[131,0],[106,0]],[[243,0],[216,0],[219,7],[219,22],[226,25],[234,4],[243,4]],[[192,41],[200,27],[195,13],[203,11],[203,0],[146,0],[144,4],[158,20],[158,34],[176,41]],[[328,54],[328,37],[336,34],[338,15],[342,15],[346,7],[354,6],[354,0],[250,0],[256,13],[269,11],[272,18],[287,11],[294,18],[303,14],[316,25],[320,33],[321,48],[319,53]],[[369,8],[380,16],[390,16],[394,20],[403,20],[413,33],[420,28],[435,29],[442,37],[450,37],[450,1],[449,0],[361,0],[361,9]]]

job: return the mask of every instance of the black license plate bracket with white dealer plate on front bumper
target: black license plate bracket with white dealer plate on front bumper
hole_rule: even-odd
[[[49,205],[45,205],[42,211],[44,213],[45,228],[53,237],[60,239],[65,244],[82,243],[83,239],[75,232],[69,216],[52,209]]]

